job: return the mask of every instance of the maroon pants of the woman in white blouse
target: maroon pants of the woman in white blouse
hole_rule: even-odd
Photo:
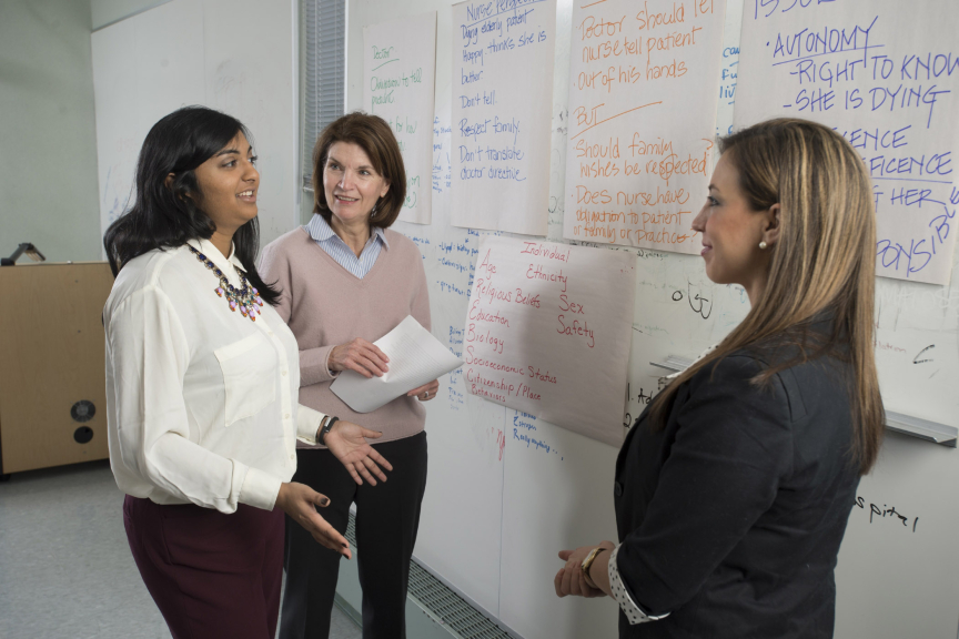
[[[127,496],[123,524],[173,639],[272,639],[280,611],[283,513],[224,515]]]

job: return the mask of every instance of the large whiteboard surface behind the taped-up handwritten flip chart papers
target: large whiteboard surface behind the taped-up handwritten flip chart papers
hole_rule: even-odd
[[[750,6],[765,2],[748,1]],[[451,42],[451,4],[440,0],[350,3],[349,109],[361,106],[362,48],[356,43],[362,42],[363,26],[436,10],[436,47],[444,51]],[[716,62],[720,74],[717,133],[728,133],[733,123],[743,4],[743,0],[727,3],[723,53]],[[955,8],[947,0],[926,4],[939,10],[923,10],[922,14],[955,19]],[[572,0],[557,4],[547,233],[553,242],[563,241],[572,8]],[[473,250],[485,232],[455,229],[448,222],[451,87],[445,79],[451,74],[448,58],[440,55],[433,223],[396,227],[423,252],[434,334],[462,353],[465,292],[476,261]],[[649,362],[668,355],[698,355],[741,321],[748,298],[738,286],[710,282],[698,257],[608,250],[636,256],[628,415],[624,418],[629,424],[659,387],[662,369]],[[957,275],[959,264],[953,262],[947,286],[877,281],[877,362],[887,408],[950,426],[959,426]],[[430,477],[414,552],[417,560],[518,637],[615,637],[612,601],[557,599],[552,578],[559,568],[555,552],[561,548],[615,539],[612,485],[617,450],[476,399],[464,392],[464,382],[456,374],[442,382],[440,396],[427,404]],[[551,453],[514,438],[514,429],[522,434],[534,428]],[[877,468],[860,484],[864,507],[854,507],[839,554],[837,638],[956,637],[957,455],[952,448],[888,435]],[[887,515],[875,515],[872,504]],[[906,516],[908,526],[888,514],[890,508]]]

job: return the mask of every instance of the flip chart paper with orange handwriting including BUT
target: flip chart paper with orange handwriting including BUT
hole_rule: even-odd
[[[698,254],[724,0],[576,0],[563,236]]]

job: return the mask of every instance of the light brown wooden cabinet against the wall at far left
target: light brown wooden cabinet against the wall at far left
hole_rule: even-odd
[[[0,473],[103,459],[105,262],[0,267]]]

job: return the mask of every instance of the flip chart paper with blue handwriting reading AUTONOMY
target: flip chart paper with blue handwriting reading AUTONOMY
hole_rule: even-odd
[[[956,4],[747,0],[744,9],[736,126],[790,116],[841,133],[872,178],[876,273],[948,283],[959,206]]]

